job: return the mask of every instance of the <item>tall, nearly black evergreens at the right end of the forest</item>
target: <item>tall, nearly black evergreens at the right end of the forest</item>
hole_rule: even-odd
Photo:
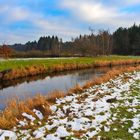
[[[140,55],[140,25],[119,28],[113,33],[113,54]]]

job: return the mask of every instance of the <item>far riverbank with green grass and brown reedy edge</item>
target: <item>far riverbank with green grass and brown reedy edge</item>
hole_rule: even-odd
[[[104,56],[94,58],[71,58],[71,59],[28,59],[7,60],[0,62],[0,79],[13,80],[17,78],[38,74],[50,74],[62,71],[79,70],[86,68],[135,65],[140,64],[139,57],[129,56]]]

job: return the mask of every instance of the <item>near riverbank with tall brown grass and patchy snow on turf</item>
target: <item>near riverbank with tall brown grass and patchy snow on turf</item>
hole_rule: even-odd
[[[113,70],[67,94],[55,91],[45,98],[13,101],[1,114],[0,128],[16,126],[10,133],[18,138],[139,139],[140,73],[135,70],[140,67]],[[1,132],[1,138],[9,134]]]

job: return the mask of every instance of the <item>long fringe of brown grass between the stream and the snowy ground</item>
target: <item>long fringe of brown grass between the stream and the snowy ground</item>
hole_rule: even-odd
[[[56,98],[61,98],[71,93],[81,93],[84,89],[87,89],[93,85],[107,82],[110,79],[114,79],[119,74],[123,74],[124,72],[132,72],[134,70],[140,70],[140,66],[125,67],[119,70],[114,69],[102,77],[87,82],[83,87],[77,84],[74,88],[70,89],[67,94],[62,91],[55,90],[54,92],[49,93],[46,97],[36,95],[34,98],[27,99],[26,101],[19,101],[16,99],[12,100],[8,103],[6,109],[0,113],[0,128],[10,129],[15,126],[17,124],[17,120],[22,118],[23,112],[35,115],[32,112],[34,108],[40,110],[47,118],[47,116],[51,114],[50,105],[55,103]]]

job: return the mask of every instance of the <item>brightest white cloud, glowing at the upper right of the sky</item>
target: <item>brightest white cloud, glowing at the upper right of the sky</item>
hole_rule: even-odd
[[[61,6],[70,10],[76,18],[91,24],[106,24],[118,27],[130,26],[135,21],[140,21],[136,13],[121,11],[115,4],[107,6],[96,0],[63,0]]]

